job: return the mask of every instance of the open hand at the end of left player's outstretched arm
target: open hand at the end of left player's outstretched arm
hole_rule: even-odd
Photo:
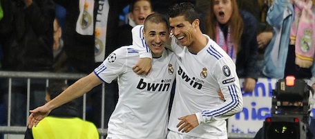
[[[49,113],[50,110],[46,107],[46,105],[39,106],[34,110],[30,110],[30,117],[28,117],[28,128],[31,129],[34,125],[36,127],[39,121],[43,120]]]

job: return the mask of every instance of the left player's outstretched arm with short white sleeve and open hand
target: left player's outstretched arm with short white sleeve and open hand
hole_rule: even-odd
[[[40,120],[44,119],[50,111],[70,102],[75,98],[79,98],[84,95],[95,86],[102,83],[102,81],[111,83],[118,75],[121,75],[126,71],[126,48],[118,48],[111,55],[109,55],[104,62],[95,68],[93,73],[90,73],[86,77],[82,77],[74,84],[69,86],[64,92],[58,95],[50,102],[39,106],[37,109],[30,111],[30,117],[28,118],[28,128],[36,126]]]

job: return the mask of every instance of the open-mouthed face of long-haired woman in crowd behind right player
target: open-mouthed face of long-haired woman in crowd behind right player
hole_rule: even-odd
[[[227,24],[233,12],[231,0],[213,0],[213,10],[218,22]]]

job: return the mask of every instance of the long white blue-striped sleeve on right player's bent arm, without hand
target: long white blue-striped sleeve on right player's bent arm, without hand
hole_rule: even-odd
[[[226,120],[242,111],[242,93],[235,64],[231,59],[222,58],[213,67],[215,68],[213,75],[215,75],[220,85],[225,102],[213,109],[195,113],[199,123],[212,120]]]

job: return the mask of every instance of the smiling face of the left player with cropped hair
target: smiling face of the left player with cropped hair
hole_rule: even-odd
[[[151,21],[145,25],[143,30],[144,39],[149,46],[153,57],[161,57],[166,41],[169,39],[169,30],[167,30],[166,24],[155,24]]]

